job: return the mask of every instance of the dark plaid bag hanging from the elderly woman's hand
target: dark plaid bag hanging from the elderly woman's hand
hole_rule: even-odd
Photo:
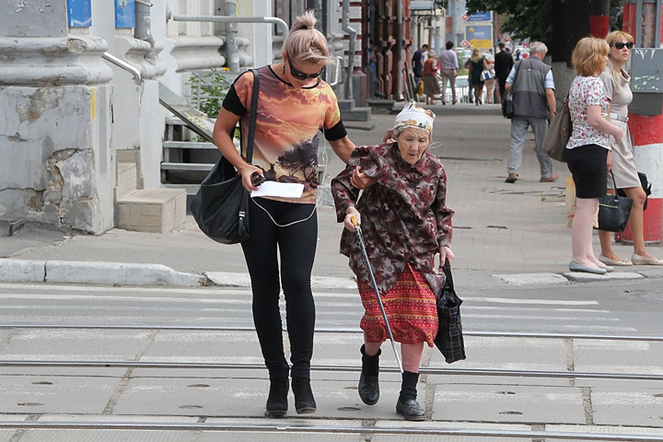
[[[445,275],[442,294],[437,301],[438,330],[435,346],[440,350],[447,363],[465,359],[465,343],[463,341],[463,323],[461,321],[461,304],[463,300],[456,294],[451,266],[446,261],[442,266]]]

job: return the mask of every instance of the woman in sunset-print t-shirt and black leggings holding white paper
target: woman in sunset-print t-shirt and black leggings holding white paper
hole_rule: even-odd
[[[213,132],[222,155],[242,175],[245,189],[258,191],[258,183],[264,180],[273,184],[271,193],[251,198],[250,234],[242,242],[251,276],[253,322],[269,370],[268,417],[287,413],[289,377],[296,412],[316,411],[309,371],[315,324],[311,269],[318,233],[319,131],[344,162],[355,147],[340,119],[334,91],[320,79],[334,57],[329,55],[327,41],[315,24],[313,12],[297,17],[285,41],[282,61],[258,68],[260,87],[251,163],[244,160],[246,137],[242,136],[240,155],[231,135],[238,122],[242,135],[249,125],[253,86],[250,73],[238,77],[231,86]],[[303,191],[286,196],[278,190],[284,188],[282,184],[299,184]],[[291,367],[283,349],[278,307],[281,286],[286,300]]]

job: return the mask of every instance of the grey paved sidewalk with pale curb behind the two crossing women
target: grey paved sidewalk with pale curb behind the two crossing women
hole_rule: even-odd
[[[437,114],[430,150],[439,155],[448,175],[448,205],[456,211],[452,248],[457,285],[554,285],[569,281],[663,277],[655,267],[617,268],[606,276],[568,273],[570,232],[565,225],[565,164],[555,163],[560,179],[539,183],[539,164],[530,135],[515,184],[504,182],[510,123],[498,105],[432,106]],[[377,144],[394,115],[374,115],[373,131],[350,130],[356,144]],[[332,157],[329,176],[343,164]],[[318,211],[319,244],[314,287],[351,287],[352,272],[338,253],[340,224],[332,206]],[[189,217],[172,233],[112,229],[101,236],[26,225],[15,236],[0,235],[0,282],[71,282],[102,285],[184,285],[207,282],[247,285],[239,245],[207,239]],[[598,250],[595,238],[595,251]],[[615,246],[628,258],[632,247]],[[660,247],[652,251],[663,256]],[[86,263],[85,265],[83,263]],[[116,264],[112,264],[116,263]]]

